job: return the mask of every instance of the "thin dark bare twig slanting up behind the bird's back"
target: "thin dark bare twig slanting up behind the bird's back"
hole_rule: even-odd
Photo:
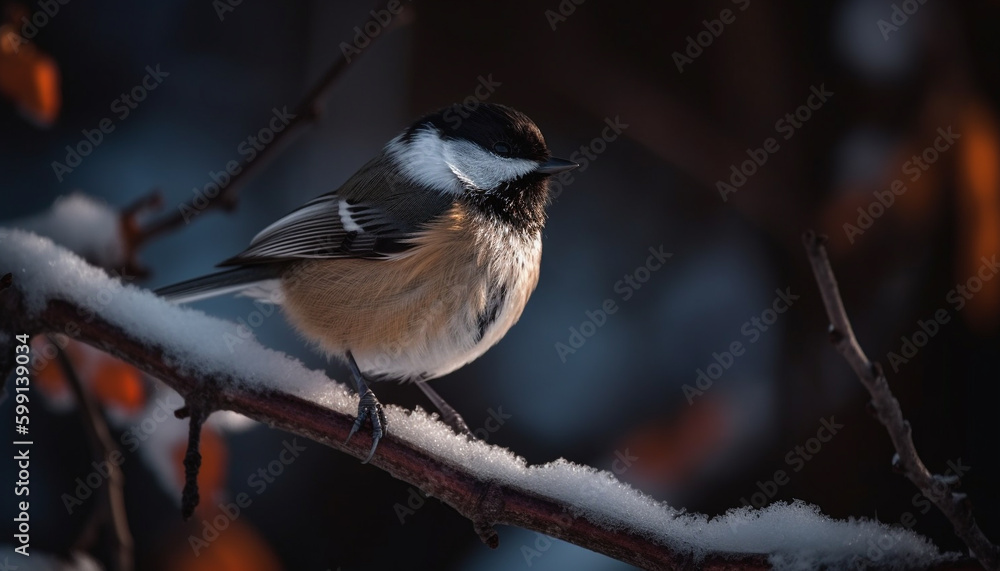
[[[384,10],[387,4],[389,4],[388,0],[382,1],[375,9]],[[383,33],[372,37],[371,41],[375,42],[378,38],[387,36],[390,30],[405,25],[409,21],[410,18],[407,17],[395,17]],[[366,46],[365,49],[371,49],[371,44]],[[313,124],[322,116],[323,100],[329,94],[330,89],[333,88],[337,80],[343,75],[344,71],[347,70],[348,65],[356,61],[358,57],[360,57],[360,54],[355,54],[353,58],[349,58],[342,52],[340,57],[334,60],[316,84],[313,85],[312,89],[309,90],[302,101],[295,107],[295,110],[292,112],[295,117],[291,119],[283,130],[275,133],[274,140],[257,153],[256,156],[248,157],[243,161],[241,170],[232,176],[229,184],[225,185],[215,196],[201,197],[202,204],[198,204],[198,199],[192,199],[178,206],[172,214],[141,228],[133,237],[135,248],[187,224],[195,216],[209,210],[233,210],[236,207],[239,190],[256,176],[265,165],[273,160],[274,157],[280,154],[305,127]]]

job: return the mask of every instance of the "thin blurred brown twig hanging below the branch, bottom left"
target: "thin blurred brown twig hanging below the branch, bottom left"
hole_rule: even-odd
[[[63,375],[73,390],[83,418],[83,424],[87,431],[87,439],[90,441],[90,448],[93,451],[97,462],[102,462],[108,471],[108,486],[105,489],[107,499],[106,509],[98,508],[91,516],[91,523],[87,525],[85,531],[93,531],[97,527],[97,522],[103,517],[110,518],[111,537],[114,541],[115,569],[118,571],[131,571],[134,568],[132,533],[128,529],[128,517],[125,511],[125,477],[119,467],[122,452],[111,438],[111,431],[104,420],[104,414],[99,406],[83,388],[80,377],[73,368],[69,356],[53,340],[49,341],[56,348],[56,355],[59,365],[63,370]],[[89,535],[89,533],[84,534]]]

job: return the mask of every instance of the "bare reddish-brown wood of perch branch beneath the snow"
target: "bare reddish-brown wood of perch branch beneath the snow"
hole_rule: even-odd
[[[12,308],[9,303],[3,303],[2,306],[4,313],[24,314],[23,308]],[[21,326],[37,332],[62,331],[66,323],[71,323],[81,313],[86,313],[81,310],[75,304],[52,300],[37,317],[22,322]],[[167,364],[175,361],[177,355],[171,355],[164,347],[142,343],[131,332],[100,316],[94,317],[90,322],[80,322],[76,338],[157,377],[184,395],[189,403],[197,400],[197,394],[203,385],[214,381],[214,376],[193,374]],[[285,381],[271,380],[276,384]],[[329,382],[334,383],[332,380]],[[331,410],[290,394],[261,392],[238,386],[223,389],[219,396],[225,409],[304,436],[359,460],[367,455],[371,447],[370,435],[360,433],[355,435],[350,445],[344,444],[354,423],[351,412]],[[192,408],[197,409],[197,405]],[[498,544],[493,525],[518,525],[647,569],[680,568],[693,564],[689,554],[651,542],[631,526],[612,530],[586,517],[570,516],[568,514],[579,511],[579,506],[554,498],[539,497],[499,482],[483,480],[471,470],[414,447],[391,432],[379,443],[378,452],[370,464],[452,506],[474,523],[480,536],[492,547]],[[716,554],[705,563],[706,568],[714,569],[770,568],[767,557],[763,555]]]

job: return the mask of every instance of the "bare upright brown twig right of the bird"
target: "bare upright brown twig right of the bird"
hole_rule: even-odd
[[[941,484],[945,484],[949,490],[952,489],[957,484],[957,479],[931,474],[917,454],[910,423],[903,418],[899,401],[889,388],[882,366],[868,359],[854,336],[854,329],[844,310],[844,302],[840,299],[837,279],[833,275],[833,268],[830,267],[830,259],[826,254],[824,246],[826,237],[817,236],[810,231],[805,233],[802,241],[809,254],[809,263],[812,264],[820,294],[823,296],[826,314],[830,318],[830,341],[871,394],[879,422],[889,432],[889,438],[892,439],[892,445],[896,449],[893,466],[902,471],[903,475],[913,482],[925,497],[934,502],[941,513],[951,521],[955,535],[965,542],[983,567],[1000,568],[1000,550],[976,525],[972,515],[972,503],[966,495],[957,492],[942,494],[935,491],[934,488],[940,487]]]

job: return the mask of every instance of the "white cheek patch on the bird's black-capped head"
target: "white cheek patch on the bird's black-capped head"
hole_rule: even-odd
[[[500,157],[470,141],[442,140],[434,130],[418,131],[409,143],[396,137],[386,152],[407,177],[448,194],[491,190],[538,168],[535,161]]]

